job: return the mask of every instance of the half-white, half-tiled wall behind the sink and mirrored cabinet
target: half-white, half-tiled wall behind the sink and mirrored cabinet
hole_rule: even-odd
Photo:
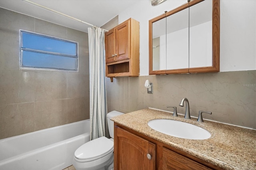
[[[255,1],[220,0],[221,72],[148,75],[148,20],[185,2],[168,0],[152,7],[150,1],[137,1],[119,15],[119,23],[130,17],[140,22],[140,77],[118,77],[113,83],[106,78],[108,111],[172,111],[166,108],[172,105],[184,114],[179,103],[187,97],[194,117],[198,111],[211,111],[204,119],[256,129]],[[153,94],[146,93],[146,79],[153,83]]]

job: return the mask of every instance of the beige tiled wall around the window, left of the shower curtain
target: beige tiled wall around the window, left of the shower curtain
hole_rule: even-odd
[[[19,30],[78,42],[79,72],[19,68]],[[0,139],[89,119],[88,34],[0,8]]]

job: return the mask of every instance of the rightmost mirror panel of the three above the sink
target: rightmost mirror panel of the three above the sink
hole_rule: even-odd
[[[212,66],[212,0],[190,6],[189,67]]]

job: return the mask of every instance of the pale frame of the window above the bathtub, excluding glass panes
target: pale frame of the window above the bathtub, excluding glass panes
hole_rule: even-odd
[[[70,41],[70,40],[65,40],[62,38],[56,38],[53,36],[47,36],[44,34],[39,34],[39,33],[35,33],[35,32],[30,32],[30,31],[26,31],[26,30],[20,30],[20,41],[19,41],[19,63],[20,63],[20,69],[32,69],[32,70],[50,70],[50,71],[74,71],[74,72],[78,72],[78,42],[74,42],[74,41]],[[43,38],[49,38],[52,40],[57,40],[57,41],[62,41],[62,42],[67,42],[67,43],[73,43],[76,45],[76,55],[70,55],[70,54],[65,54],[65,53],[58,53],[58,52],[51,52],[51,51],[44,51],[44,50],[38,50],[38,49],[30,49],[30,48],[26,48],[23,47],[23,33],[26,34],[32,34],[35,36],[41,36]],[[37,66],[27,66],[27,65],[23,65],[23,51],[31,51],[31,52],[35,52],[35,53],[43,53],[43,54],[50,54],[50,55],[58,55],[58,56],[62,56],[62,57],[71,57],[71,58],[75,58],[75,69],[64,69],[64,68],[55,68],[55,67],[37,67]]]

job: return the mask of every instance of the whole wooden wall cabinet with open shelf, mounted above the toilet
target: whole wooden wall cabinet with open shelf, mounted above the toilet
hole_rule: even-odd
[[[105,33],[106,77],[139,76],[140,23],[132,18]]]

